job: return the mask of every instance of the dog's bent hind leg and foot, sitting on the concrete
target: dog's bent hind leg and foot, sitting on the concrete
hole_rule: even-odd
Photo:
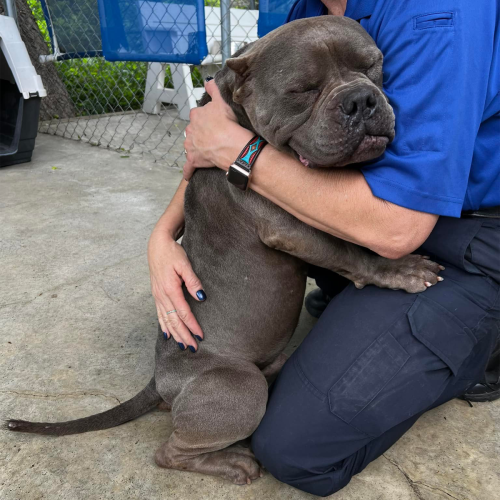
[[[204,372],[175,398],[174,432],[156,452],[156,463],[235,484],[258,479],[262,471],[252,452],[234,443],[249,437],[259,425],[267,391],[266,379],[255,365]]]

